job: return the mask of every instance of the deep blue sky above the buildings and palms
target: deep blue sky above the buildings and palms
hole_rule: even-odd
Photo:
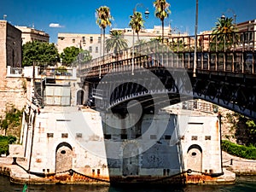
[[[0,19],[3,15],[14,26],[34,26],[49,33],[49,41],[57,43],[58,32],[100,33],[96,26],[96,9],[102,5],[110,8],[114,20],[112,27],[129,27],[129,16],[137,3],[137,11],[148,8],[150,15],[145,19],[146,28],[160,26],[160,20],[154,17],[154,0],[4,0],[0,5]],[[172,14],[165,21],[180,32],[195,32],[195,0],[167,0],[171,4]],[[255,0],[198,0],[198,32],[211,30],[217,18],[223,13],[228,17],[236,14],[236,23],[256,19]],[[50,24],[55,24],[50,27]],[[56,25],[57,24],[57,25]],[[61,26],[61,27],[56,27]],[[108,33],[109,27],[107,29]]]

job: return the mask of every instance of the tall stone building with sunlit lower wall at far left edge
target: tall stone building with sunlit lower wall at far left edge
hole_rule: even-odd
[[[26,92],[22,88],[21,32],[6,20],[0,20],[0,116],[14,106],[23,108]],[[12,73],[13,72],[13,73]]]

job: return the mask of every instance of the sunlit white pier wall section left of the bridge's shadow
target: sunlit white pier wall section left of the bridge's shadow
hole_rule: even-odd
[[[32,172],[64,172],[73,169],[85,175],[108,178],[107,158],[101,118],[96,112],[82,113],[78,108],[27,108],[29,130],[23,131],[27,166]],[[36,116],[35,116],[36,115]],[[33,125],[33,118],[36,117]],[[85,120],[94,129],[84,134]],[[34,130],[34,132],[33,132]],[[84,143],[83,144],[81,144]],[[30,153],[32,150],[32,158]]]

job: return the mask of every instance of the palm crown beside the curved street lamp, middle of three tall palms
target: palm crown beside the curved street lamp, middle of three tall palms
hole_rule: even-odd
[[[137,40],[139,41],[139,32],[144,28],[144,22],[143,15],[141,12],[134,12],[134,15],[130,15],[130,23],[129,26],[131,26],[131,29],[133,32],[137,33]]]

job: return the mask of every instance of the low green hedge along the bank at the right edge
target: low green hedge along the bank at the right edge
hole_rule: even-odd
[[[251,144],[250,146],[238,145],[230,141],[223,140],[221,143],[222,149],[237,157],[245,158],[248,160],[256,160],[256,148]]]

